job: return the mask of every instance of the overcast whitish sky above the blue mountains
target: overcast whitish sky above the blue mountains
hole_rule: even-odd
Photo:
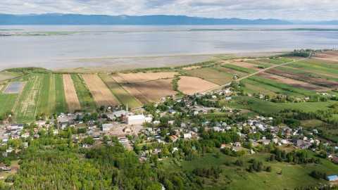
[[[0,13],[338,20],[338,0],[0,0]]]

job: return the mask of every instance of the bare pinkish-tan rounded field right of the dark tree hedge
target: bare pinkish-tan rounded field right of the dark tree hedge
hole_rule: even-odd
[[[182,91],[184,94],[195,94],[200,91],[206,91],[208,89],[213,89],[218,87],[217,84],[202,80],[197,77],[185,77],[181,76],[181,79],[178,83],[178,90]]]

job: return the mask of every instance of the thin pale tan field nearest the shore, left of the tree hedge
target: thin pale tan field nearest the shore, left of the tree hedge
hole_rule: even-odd
[[[127,82],[134,83],[134,82],[147,82],[150,80],[159,80],[159,79],[166,79],[166,78],[173,78],[177,75],[178,72],[137,72],[137,73],[119,73],[120,77]]]

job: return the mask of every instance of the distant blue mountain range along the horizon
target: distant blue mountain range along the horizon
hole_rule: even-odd
[[[338,21],[292,22],[278,19],[201,18],[185,15],[0,14],[0,25],[338,25]]]

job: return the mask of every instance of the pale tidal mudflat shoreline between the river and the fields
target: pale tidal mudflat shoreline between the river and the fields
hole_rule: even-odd
[[[132,57],[102,57],[102,58],[72,58],[51,60],[41,63],[10,63],[10,67],[1,68],[1,72],[11,68],[37,67],[56,72],[117,72],[139,68],[164,68],[192,65],[218,59],[267,57],[287,51],[251,52],[251,53],[221,53],[221,54],[185,54],[168,56],[132,56]]]

